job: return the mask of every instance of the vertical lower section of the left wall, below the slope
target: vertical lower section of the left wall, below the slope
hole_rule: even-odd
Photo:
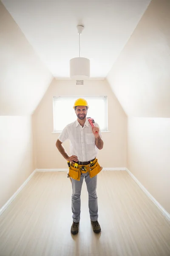
[[[34,169],[31,116],[0,116],[0,208]]]

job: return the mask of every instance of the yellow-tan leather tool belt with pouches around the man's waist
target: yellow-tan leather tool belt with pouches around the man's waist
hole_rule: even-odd
[[[79,163],[79,162],[78,162]],[[81,162],[84,163],[84,162]],[[85,162],[87,163],[87,162]],[[82,173],[89,173],[89,176],[93,178],[96,176],[100,171],[102,171],[102,167],[99,165],[98,160],[95,158],[94,160],[91,160],[88,162],[88,164],[75,164],[71,163],[69,164],[69,173],[68,176],[73,178],[74,180],[80,180],[80,176]],[[77,166],[77,168],[76,168]]]

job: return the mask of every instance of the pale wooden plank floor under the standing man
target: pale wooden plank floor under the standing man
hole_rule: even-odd
[[[170,256],[170,223],[125,171],[98,175],[92,230],[85,182],[79,233],[71,235],[71,182],[37,172],[0,216],[0,256]]]

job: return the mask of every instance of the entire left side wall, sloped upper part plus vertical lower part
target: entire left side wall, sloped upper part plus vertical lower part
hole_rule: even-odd
[[[0,2],[0,208],[35,169],[31,113],[51,79]]]

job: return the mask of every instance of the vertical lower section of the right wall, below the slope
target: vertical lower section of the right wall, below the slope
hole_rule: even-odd
[[[170,213],[170,118],[128,118],[128,169]]]

